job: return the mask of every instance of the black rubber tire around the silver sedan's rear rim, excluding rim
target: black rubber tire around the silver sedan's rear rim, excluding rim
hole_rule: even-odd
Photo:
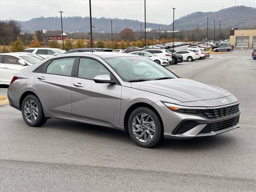
[[[36,118],[36,120],[34,120],[33,122],[30,122],[26,116],[25,116],[25,104],[28,100],[32,100],[36,103],[37,109],[38,109],[38,116]],[[24,119],[24,121],[26,122],[26,124],[28,124],[29,126],[32,127],[38,127],[41,126],[43,124],[45,124],[45,122],[47,121],[47,118],[44,116],[44,111],[41,105],[40,100],[34,96],[34,95],[28,95],[24,98],[24,100],[22,101],[22,108],[21,108],[21,112],[22,112],[22,117]]]

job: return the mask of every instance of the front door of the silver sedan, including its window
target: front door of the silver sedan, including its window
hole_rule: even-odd
[[[121,85],[96,83],[97,75],[110,75],[98,60],[80,58],[72,80],[72,115],[76,118],[119,125]],[[117,81],[117,80],[116,80]]]

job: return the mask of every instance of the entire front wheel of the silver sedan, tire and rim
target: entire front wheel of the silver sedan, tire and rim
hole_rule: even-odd
[[[128,132],[132,140],[141,147],[152,148],[162,141],[160,119],[150,108],[136,108],[128,120]]]

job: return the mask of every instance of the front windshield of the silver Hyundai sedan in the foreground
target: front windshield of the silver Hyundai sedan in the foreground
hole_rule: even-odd
[[[177,78],[172,72],[148,58],[126,56],[111,57],[104,60],[126,82]]]

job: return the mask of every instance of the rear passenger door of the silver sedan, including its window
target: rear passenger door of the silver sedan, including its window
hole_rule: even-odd
[[[36,91],[51,113],[72,116],[70,86],[75,60],[75,57],[52,59],[34,71]]]

